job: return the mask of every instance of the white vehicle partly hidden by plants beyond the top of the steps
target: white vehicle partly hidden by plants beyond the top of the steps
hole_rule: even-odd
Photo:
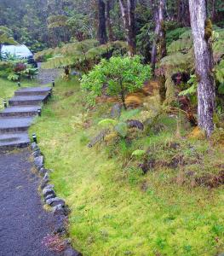
[[[26,59],[32,56],[32,52],[25,44],[20,45],[3,45],[1,54],[4,57],[5,54],[16,55],[20,59]]]

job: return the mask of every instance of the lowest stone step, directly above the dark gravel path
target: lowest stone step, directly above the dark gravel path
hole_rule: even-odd
[[[0,149],[24,148],[31,143],[27,132],[0,134]]]

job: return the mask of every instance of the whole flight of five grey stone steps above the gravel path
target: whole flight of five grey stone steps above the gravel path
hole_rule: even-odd
[[[31,143],[28,129],[51,92],[50,87],[27,87],[14,92],[9,107],[0,112],[0,149],[23,148]]]

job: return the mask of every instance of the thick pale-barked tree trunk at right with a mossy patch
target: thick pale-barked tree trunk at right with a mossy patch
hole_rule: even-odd
[[[212,25],[206,15],[206,0],[189,0],[189,6],[198,79],[198,125],[210,137],[214,131],[215,111],[214,61],[210,42]]]

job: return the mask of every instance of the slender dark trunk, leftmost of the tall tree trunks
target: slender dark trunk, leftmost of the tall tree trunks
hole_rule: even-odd
[[[103,0],[98,0],[98,18],[99,18],[99,25],[98,25],[98,37],[100,44],[107,43],[107,35],[106,35],[106,16],[105,16],[105,3]]]

